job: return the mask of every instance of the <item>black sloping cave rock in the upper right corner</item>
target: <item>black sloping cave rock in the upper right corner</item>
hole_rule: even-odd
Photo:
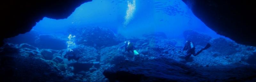
[[[182,0],[195,16],[217,34],[237,43],[256,46],[255,1]]]

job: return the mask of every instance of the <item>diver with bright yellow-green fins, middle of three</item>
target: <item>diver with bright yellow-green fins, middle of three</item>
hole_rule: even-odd
[[[120,48],[123,48],[123,47],[125,47],[125,51],[128,51],[128,52],[132,51],[132,53],[133,53],[134,55],[139,55],[139,53],[138,53],[136,50],[134,50],[135,47],[133,46],[133,43],[132,43],[131,41],[125,41],[125,42],[124,42],[124,46],[122,46],[122,47],[120,47]],[[118,48],[118,50],[119,50],[120,48]],[[124,51],[124,52],[125,52],[125,51]]]

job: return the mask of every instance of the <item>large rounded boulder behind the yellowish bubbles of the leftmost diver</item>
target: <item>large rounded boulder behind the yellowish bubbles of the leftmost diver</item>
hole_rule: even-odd
[[[83,28],[70,28],[70,34],[76,36],[77,44],[93,47],[113,46],[118,44],[116,36],[108,28],[99,26],[87,26]]]

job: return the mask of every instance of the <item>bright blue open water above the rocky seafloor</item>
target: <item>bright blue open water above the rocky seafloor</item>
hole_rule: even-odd
[[[181,0],[137,0],[132,19],[124,26],[127,8],[127,0],[93,0],[76,8],[67,19],[45,17],[33,29],[43,34],[65,34],[68,27],[101,26],[124,36],[164,32],[168,38],[183,38],[184,30],[194,30],[220,37]]]

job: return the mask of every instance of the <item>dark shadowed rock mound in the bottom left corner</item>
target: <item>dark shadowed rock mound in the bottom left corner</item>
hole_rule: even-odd
[[[1,82],[68,82],[60,71],[40,58],[1,55],[0,62]]]

